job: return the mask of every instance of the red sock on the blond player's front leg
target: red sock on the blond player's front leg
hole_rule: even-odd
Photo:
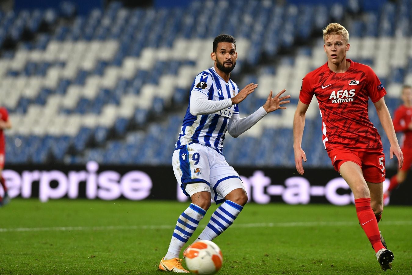
[[[370,243],[375,252],[385,248],[381,242],[378,223],[376,222],[375,213],[370,207],[370,198],[363,197],[355,200],[356,214],[358,215],[359,223],[363,231],[365,231]]]

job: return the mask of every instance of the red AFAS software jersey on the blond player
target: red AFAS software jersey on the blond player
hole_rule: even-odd
[[[325,149],[382,148],[379,133],[369,120],[368,100],[379,101],[386,90],[372,68],[346,60],[351,65],[344,73],[331,71],[328,63],[308,73],[303,78],[299,99],[309,104],[315,94]]]

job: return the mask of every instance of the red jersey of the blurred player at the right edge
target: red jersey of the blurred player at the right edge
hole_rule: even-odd
[[[393,127],[396,132],[403,132],[403,148],[412,149],[412,130],[408,128],[408,125],[412,122],[412,107],[406,107],[401,105],[395,110],[393,117]]]

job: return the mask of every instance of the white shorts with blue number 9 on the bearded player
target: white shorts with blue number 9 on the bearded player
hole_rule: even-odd
[[[245,189],[239,174],[225,157],[208,146],[199,143],[185,145],[173,152],[172,161],[176,179],[187,196],[209,191],[219,204],[232,190]]]

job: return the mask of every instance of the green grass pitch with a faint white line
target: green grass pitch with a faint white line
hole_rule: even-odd
[[[187,205],[14,199],[0,208],[0,274],[163,274],[157,266]],[[385,208],[379,226],[395,255],[386,273],[412,274],[411,213]],[[247,204],[214,241],[221,275],[384,273],[353,205]]]

